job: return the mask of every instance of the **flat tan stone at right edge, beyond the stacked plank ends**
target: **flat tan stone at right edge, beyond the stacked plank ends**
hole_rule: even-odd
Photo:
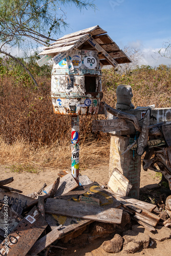
[[[150,232],[147,229],[144,230],[144,234],[147,234],[150,238],[155,241],[164,241],[171,237],[171,229],[168,227],[156,226],[155,232]]]

